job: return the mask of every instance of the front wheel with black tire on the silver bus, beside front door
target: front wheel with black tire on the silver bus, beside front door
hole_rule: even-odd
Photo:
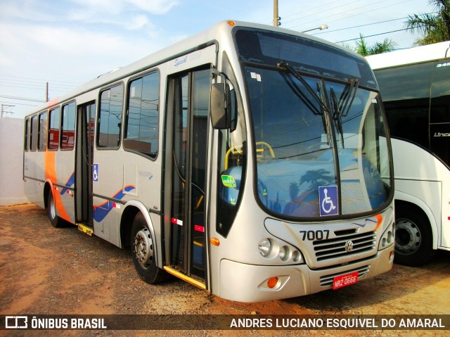
[[[165,272],[156,265],[155,245],[145,217],[141,212],[134,217],[131,227],[131,259],[143,281],[155,284],[165,279]]]

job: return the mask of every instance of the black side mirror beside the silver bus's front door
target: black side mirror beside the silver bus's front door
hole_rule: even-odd
[[[211,122],[214,129],[231,127],[230,87],[224,83],[211,85]]]

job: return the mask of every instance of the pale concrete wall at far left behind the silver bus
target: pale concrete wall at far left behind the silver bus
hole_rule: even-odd
[[[0,118],[0,206],[28,203],[23,191],[23,119]]]

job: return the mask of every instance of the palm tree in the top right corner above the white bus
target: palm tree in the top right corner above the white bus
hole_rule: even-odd
[[[423,35],[416,41],[419,46],[450,40],[450,0],[429,0],[435,13],[409,15],[406,29]]]

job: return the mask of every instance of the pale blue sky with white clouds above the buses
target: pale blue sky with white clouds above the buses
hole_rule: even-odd
[[[349,46],[363,34],[369,45],[410,48],[419,36],[404,31],[406,18],[432,11],[428,0],[278,0],[281,27]],[[56,98],[221,20],[273,17],[274,0],[0,0],[3,115],[40,106],[46,82]]]

